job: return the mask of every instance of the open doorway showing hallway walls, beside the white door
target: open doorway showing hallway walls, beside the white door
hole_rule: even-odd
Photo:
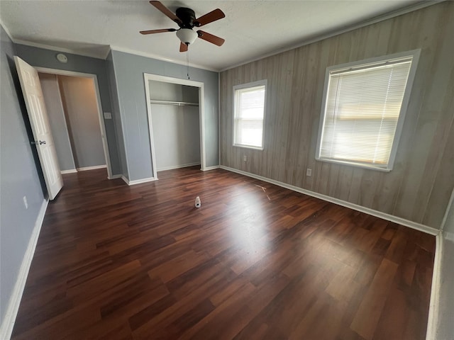
[[[94,74],[36,67],[43,88],[62,174],[106,168],[109,149]]]

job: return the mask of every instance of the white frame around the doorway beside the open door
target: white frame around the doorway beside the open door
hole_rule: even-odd
[[[96,97],[96,108],[98,111],[99,127],[101,129],[100,132],[101,132],[102,147],[104,149],[104,158],[106,159],[107,178],[113,179],[114,177],[112,176],[111,157],[109,154],[109,145],[107,143],[107,137],[106,137],[106,125],[104,124],[104,114],[103,114],[102,106],[101,106],[101,95],[99,94],[98,77],[96,76],[96,74],[66,71],[64,69],[49,69],[47,67],[35,67],[35,69],[40,73],[56,74],[57,76],[89,78],[89,79],[93,80],[94,92],[95,92],[95,97]],[[74,157],[74,155],[73,155],[73,157]]]

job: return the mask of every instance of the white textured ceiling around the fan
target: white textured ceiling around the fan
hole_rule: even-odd
[[[197,39],[189,47],[194,66],[221,70],[294,47],[370,18],[420,3],[387,1],[162,1],[174,11],[189,7],[199,17],[221,8],[226,18],[203,27],[226,39],[222,47]],[[139,30],[177,28],[148,1],[6,1],[1,23],[15,42],[57,47],[104,58],[114,50],[186,62],[175,33]]]

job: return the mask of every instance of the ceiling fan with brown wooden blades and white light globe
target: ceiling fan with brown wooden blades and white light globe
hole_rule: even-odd
[[[197,31],[192,30],[192,28],[194,27],[204,26],[207,23],[212,23],[213,21],[225,18],[226,15],[219,8],[216,8],[214,11],[206,13],[204,16],[196,18],[196,14],[191,8],[185,7],[177,8],[176,13],[174,14],[160,1],[150,1],[150,4],[152,4],[166,16],[171,18],[172,21],[175,21],[179,28],[178,29],[163,28],[161,30],[141,30],[140,31],[141,34],[177,32],[177,37],[181,41],[179,45],[179,52],[186,52],[187,47],[191,45],[196,40],[196,38],[201,38],[218,46],[221,46],[224,43],[224,41],[226,41],[223,40],[223,38],[216,37],[216,35],[206,33],[203,30]]]

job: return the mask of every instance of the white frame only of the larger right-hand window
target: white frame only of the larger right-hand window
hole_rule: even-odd
[[[411,50],[408,52],[394,53],[392,55],[385,55],[382,57],[375,57],[375,58],[370,58],[367,60],[360,60],[357,62],[349,62],[346,64],[339,64],[339,65],[335,65],[335,66],[326,68],[325,86],[323,89],[323,99],[322,99],[322,107],[321,107],[321,119],[320,119],[320,124],[319,124],[319,136],[317,138],[317,147],[316,147],[316,160],[321,161],[321,162],[358,166],[361,168],[374,169],[374,170],[378,170],[378,171],[391,171],[393,169],[394,161],[395,161],[396,154],[397,154],[397,147],[399,145],[399,139],[402,134],[402,127],[404,125],[406,110],[408,108],[410,94],[411,94],[411,88],[413,87],[414,77],[416,74],[416,68],[418,66],[420,54],[421,54],[421,49]],[[408,58],[408,57],[412,58],[411,67],[409,70],[409,77],[406,82],[404,98],[402,99],[402,106],[401,106],[401,110],[399,113],[399,118],[397,120],[396,132],[394,134],[394,139],[392,142],[391,153],[389,154],[388,164],[385,164],[385,165],[384,164],[365,164],[365,163],[360,163],[360,162],[355,162],[355,161],[349,162],[349,161],[343,161],[343,160],[338,160],[338,159],[328,159],[328,158],[320,157],[321,140],[323,137],[323,127],[325,125],[326,102],[328,99],[327,97],[328,97],[328,89],[329,89],[329,81],[330,81],[331,73],[336,72],[336,74],[338,74],[338,72],[348,71],[348,70],[352,70],[352,69],[375,67],[375,66],[379,66],[380,64],[386,64],[388,62],[393,62],[393,61],[397,61],[397,60]]]

